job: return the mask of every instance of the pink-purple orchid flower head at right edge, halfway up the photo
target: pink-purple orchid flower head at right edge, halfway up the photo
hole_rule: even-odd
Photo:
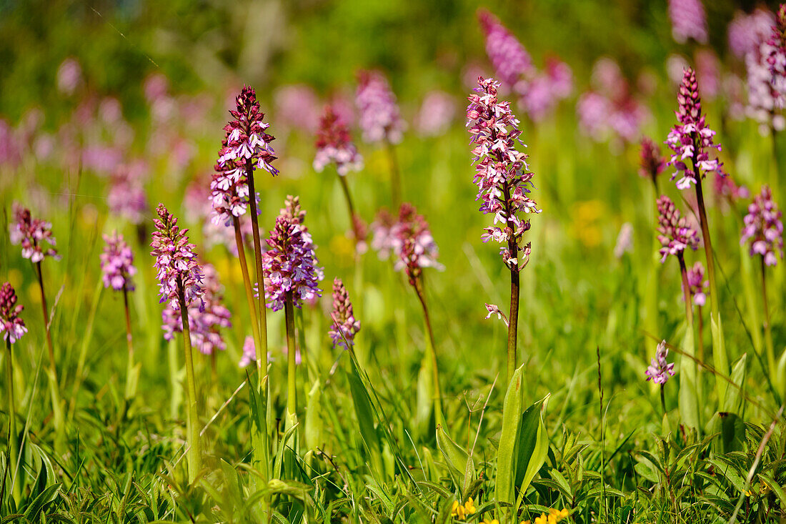
[[[751,256],[763,256],[768,266],[778,263],[778,254],[781,259],[784,257],[784,224],[780,216],[772,191],[769,186],[762,186],[762,192],[747,206],[740,244],[750,242]]]

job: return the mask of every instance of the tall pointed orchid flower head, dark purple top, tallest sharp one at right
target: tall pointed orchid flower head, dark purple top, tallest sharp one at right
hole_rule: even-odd
[[[676,124],[667,137],[666,143],[674,151],[667,165],[676,169],[671,179],[675,179],[681,173],[682,178],[677,181],[678,189],[686,189],[692,183],[696,183],[693,166],[701,172],[702,177],[707,172],[722,172],[721,163],[717,158],[710,158],[710,149],[721,150],[720,144],[713,143],[715,131],[712,131],[704,121],[701,113],[701,100],[699,98],[699,87],[696,83],[696,73],[692,68],[685,69],[682,77],[680,92],[677,100],[679,109],[675,112],[678,124]],[[690,159],[693,166],[685,163]]]

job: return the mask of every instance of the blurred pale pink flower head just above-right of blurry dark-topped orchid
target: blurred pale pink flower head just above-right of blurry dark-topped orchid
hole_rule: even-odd
[[[354,103],[360,112],[358,124],[363,131],[365,142],[401,142],[406,124],[399,114],[395,94],[382,73],[358,73],[358,90]]]

